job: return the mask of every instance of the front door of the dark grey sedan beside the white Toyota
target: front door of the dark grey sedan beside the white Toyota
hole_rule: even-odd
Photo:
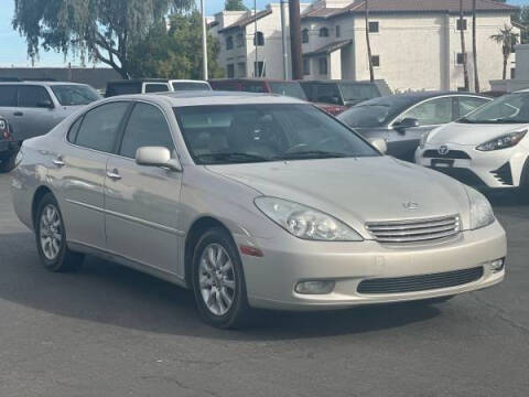
[[[440,125],[451,122],[453,108],[453,98],[444,96],[423,100],[402,112],[390,124],[388,153],[398,159],[413,161],[422,135]],[[406,119],[415,119],[419,125],[417,127],[401,126],[400,124]]]

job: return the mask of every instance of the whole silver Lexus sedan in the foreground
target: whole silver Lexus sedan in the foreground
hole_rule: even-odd
[[[47,269],[109,258],[193,289],[220,328],[500,282],[487,200],[381,151],[295,98],[122,96],[25,141],[13,203]]]

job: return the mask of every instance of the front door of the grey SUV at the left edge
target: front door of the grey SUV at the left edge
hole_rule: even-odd
[[[64,116],[57,111],[47,89],[40,85],[20,85],[18,92],[18,137],[29,139],[50,132]]]

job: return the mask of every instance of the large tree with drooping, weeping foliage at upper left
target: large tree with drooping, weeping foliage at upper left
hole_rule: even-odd
[[[39,49],[102,62],[129,77],[129,50],[168,12],[188,10],[193,0],[14,0],[13,28]]]

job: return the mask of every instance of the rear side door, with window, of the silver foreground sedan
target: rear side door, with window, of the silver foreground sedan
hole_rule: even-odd
[[[67,135],[67,150],[53,153],[48,178],[60,192],[68,240],[106,249],[104,187],[107,160],[114,151],[131,103],[100,105],[79,117]]]

